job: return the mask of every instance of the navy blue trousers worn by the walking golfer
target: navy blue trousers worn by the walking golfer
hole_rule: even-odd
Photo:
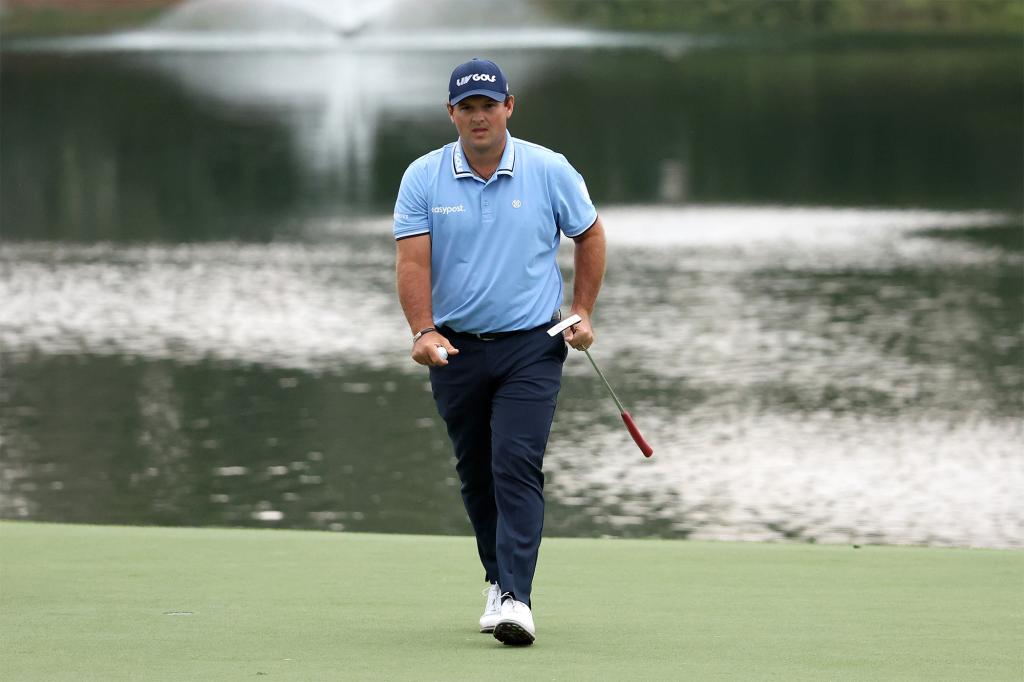
[[[544,528],[544,451],[568,354],[548,327],[493,341],[442,328],[459,354],[430,368],[484,579],[527,604]]]

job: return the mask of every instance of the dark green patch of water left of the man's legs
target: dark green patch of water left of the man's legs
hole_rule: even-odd
[[[67,387],[57,399],[45,388],[54,373]],[[31,419],[3,413],[2,515],[464,531],[422,377],[353,375],[345,378],[373,386],[369,399],[345,378],[259,368],[18,364],[6,373],[5,403],[47,406]],[[399,453],[398,442],[416,446]]]

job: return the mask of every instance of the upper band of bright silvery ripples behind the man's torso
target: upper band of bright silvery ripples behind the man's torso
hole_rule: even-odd
[[[974,282],[977,274],[970,273],[964,290],[922,292],[909,286],[914,270],[931,272],[941,263],[943,276],[954,279],[954,268],[1010,271],[1020,262],[1015,252],[913,237],[914,228],[1008,219],[992,212],[690,207],[603,214],[615,259],[602,297],[608,342],[627,358],[656,360],[671,377],[721,371],[717,361],[690,356],[705,350],[717,360],[739,358],[733,361],[742,372],[734,381],[756,380],[763,370],[742,358],[761,360],[766,353],[772,361],[785,353],[795,372],[808,375],[818,368],[804,360],[831,358],[842,368],[844,353],[859,367],[858,353],[870,356],[850,347],[853,340],[872,333],[874,316],[891,327],[904,311],[919,322],[930,310],[959,311],[967,315],[962,324],[948,324],[956,322],[951,318],[935,328],[943,338],[964,330],[969,336],[956,341],[968,343],[976,328],[972,311],[992,307]],[[398,367],[413,370],[403,361],[389,222],[336,221],[312,229],[308,239],[319,243],[0,247],[0,339],[11,354],[209,357],[305,370],[338,363],[394,367],[397,357]],[[561,257],[568,266],[571,248]],[[850,268],[859,274],[835,275]],[[897,281],[881,291],[863,275],[893,270]],[[638,305],[646,313],[630,323]],[[722,306],[742,333],[719,328]],[[900,329],[912,325],[907,319]],[[1014,333],[1004,330],[992,341],[1014,346]],[[687,354],[665,353],[660,340],[679,334],[690,339]],[[939,361],[944,353],[936,355]]]

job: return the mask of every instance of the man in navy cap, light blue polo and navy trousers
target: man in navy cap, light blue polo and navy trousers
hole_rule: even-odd
[[[430,368],[489,583],[480,632],[531,644],[544,451],[566,344],[594,342],[605,247],[583,177],[560,154],[512,137],[514,109],[498,65],[456,67],[447,113],[459,139],[406,171],[394,238],[412,356]],[[562,235],[575,243],[570,312],[583,321],[552,338]]]

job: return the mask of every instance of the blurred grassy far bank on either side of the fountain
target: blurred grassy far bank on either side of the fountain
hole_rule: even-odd
[[[927,36],[1015,39],[1024,35],[1024,5],[1014,0],[525,0],[551,24],[615,31],[672,31],[732,36],[776,34]],[[103,34],[146,24],[185,0],[5,0],[0,38]]]

